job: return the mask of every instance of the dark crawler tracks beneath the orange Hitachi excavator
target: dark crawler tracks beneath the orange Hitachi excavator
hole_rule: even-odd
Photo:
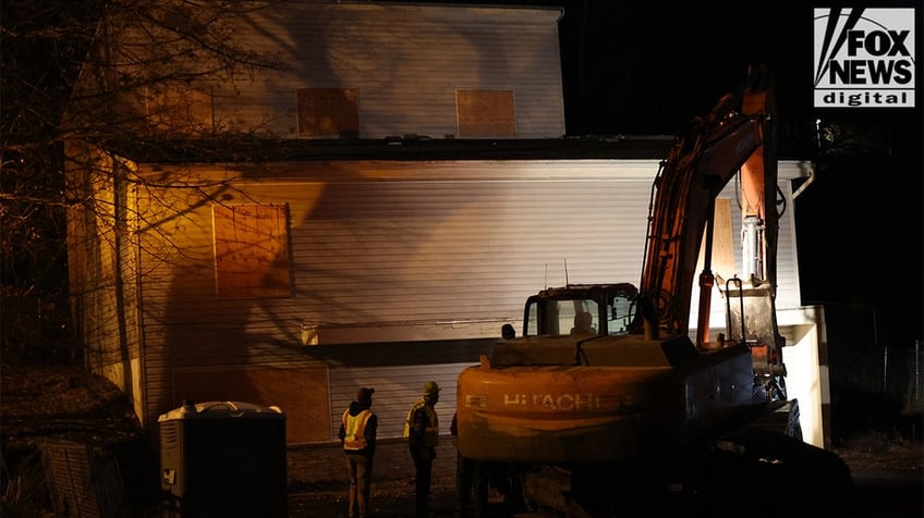
[[[618,466],[523,470],[501,514],[568,518],[854,516],[850,469],[834,453],[749,429],[702,448]],[[515,484],[513,484],[515,486]],[[506,515],[503,515],[506,513]]]

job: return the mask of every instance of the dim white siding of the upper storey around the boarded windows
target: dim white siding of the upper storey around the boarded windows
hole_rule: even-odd
[[[455,89],[512,89],[516,138],[564,135],[558,18],[549,8],[282,2],[239,44],[291,69],[215,88],[216,118],[297,137],[296,88],[357,88],[360,137],[458,135]]]

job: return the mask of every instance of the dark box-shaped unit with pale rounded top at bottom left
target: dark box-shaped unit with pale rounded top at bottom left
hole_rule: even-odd
[[[158,418],[163,516],[288,516],[285,415],[241,402]]]

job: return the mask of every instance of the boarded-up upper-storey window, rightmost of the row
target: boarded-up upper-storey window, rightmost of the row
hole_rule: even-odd
[[[513,90],[455,90],[459,135],[515,136]]]

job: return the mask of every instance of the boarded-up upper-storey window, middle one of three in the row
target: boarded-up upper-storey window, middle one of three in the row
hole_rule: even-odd
[[[357,137],[360,104],[355,88],[297,88],[299,136]]]

